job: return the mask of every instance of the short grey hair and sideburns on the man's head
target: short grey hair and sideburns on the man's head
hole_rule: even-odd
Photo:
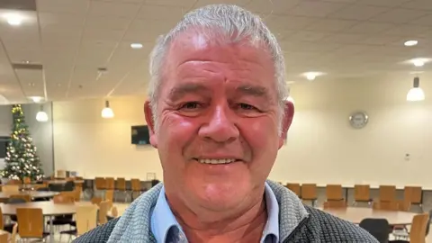
[[[157,39],[156,46],[150,53],[148,97],[153,112],[153,121],[157,127],[157,95],[164,72],[164,61],[169,45],[180,33],[198,27],[210,34],[218,34],[231,41],[263,41],[275,62],[275,82],[278,95],[279,114],[278,131],[282,133],[285,99],[288,90],[285,83],[284,55],[275,35],[266,27],[256,14],[230,4],[211,4],[185,14],[184,18],[165,36]]]

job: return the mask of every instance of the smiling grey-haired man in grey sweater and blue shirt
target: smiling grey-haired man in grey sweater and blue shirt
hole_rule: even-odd
[[[266,181],[293,120],[284,58],[254,14],[186,14],[150,55],[144,111],[164,184],[76,242],[377,242]]]

